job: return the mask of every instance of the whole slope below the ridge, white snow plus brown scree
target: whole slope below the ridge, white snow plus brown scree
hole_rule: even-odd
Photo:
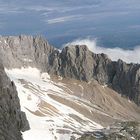
[[[24,140],[69,140],[115,121],[140,121],[134,103],[96,81],[50,77],[31,67],[5,71],[15,82],[31,127]]]

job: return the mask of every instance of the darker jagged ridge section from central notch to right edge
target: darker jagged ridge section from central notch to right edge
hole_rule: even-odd
[[[140,65],[111,61],[105,54],[94,54],[85,45],[65,47],[50,55],[49,73],[78,80],[97,80],[140,105]]]

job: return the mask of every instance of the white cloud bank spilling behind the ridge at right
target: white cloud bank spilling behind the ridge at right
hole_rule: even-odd
[[[133,50],[122,49],[122,48],[104,48],[97,46],[97,39],[77,39],[73,42],[67,43],[64,46],[68,45],[87,45],[89,50],[94,53],[105,53],[113,61],[122,59],[127,63],[140,63],[140,46],[135,47]]]

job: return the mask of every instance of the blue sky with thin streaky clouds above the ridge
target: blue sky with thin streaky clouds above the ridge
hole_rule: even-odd
[[[0,34],[43,34],[56,45],[91,36],[133,47],[140,42],[140,1],[0,0]]]

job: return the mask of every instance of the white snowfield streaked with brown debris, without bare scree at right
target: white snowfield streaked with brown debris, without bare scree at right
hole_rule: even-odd
[[[79,104],[76,96],[63,90],[63,83],[56,84],[47,73],[41,74],[31,67],[5,71],[16,84],[21,109],[30,123],[31,129],[23,133],[24,140],[68,140],[76,133],[103,128],[74,108],[53,99],[63,97]]]

